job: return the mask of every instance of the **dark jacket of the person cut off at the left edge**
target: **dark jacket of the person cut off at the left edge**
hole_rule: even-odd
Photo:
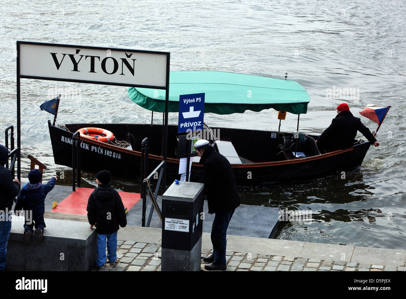
[[[11,207],[15,201],[15,196],[20,191],[20,185],[13,182],[13,177],[7,168],[0,165],[0,210],[6,208],[11,212]]]

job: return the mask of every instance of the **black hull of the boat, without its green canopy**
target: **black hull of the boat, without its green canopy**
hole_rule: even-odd
[[[72,126],[71,131],[73,131],[72,128],[76,130],[80,127],[103,126],[105,129],[118,132],[116,135],[124,136],[128,133],[130,124],[72,124],[70,126]],[[82,138],[80,148],[81,169],[89,172],[98,172],[100,170],[108,169],[114,176],[135,177],[139,179],[141,154],[139,148],[137,149],[135,146],[139,145],[140,147],[141,140],[144,136],[149,137],[153,140],[153,142],[156,143],[154,147],[155,150],[150,151],[149,155],[148,173],[152,172],[162,161],[162,157],[160,157],[160,153],[157,150],[157,148],[160,148],[162,136],[160,126],[151,127],[147,124],[133,126],[138,126],[137,130],[140,132],[137,135],[132,134],[133,141],[131,143],[134,145],[134,151],[89,140],[87,138]],[[229,130],[229,135],[238,133],[237,129],[227,130]],[[233,133],[230,130],[235,130],[236,132]],[[55,163],[72,167],[73,133],[59,127],[52,126],[50,123],[49,131]],[[172,132],[175,134],[174,132],[176,130],[171,128],[169,131],[170,133]],[[268,133],[265,131],[255,132],[263,132],[263,134]],[[241,134],[243,133],[244,132],[241,132]],[[155,138],[151,138],[151,136],[153,137],[154,135]],[[168,138],[168,182],[180,178],[180,175],[178,175],[179,160],[173,158],[175,157],[175,151],[173,149],[175,148],[176,143],[176,140],[174,139],[175,138]],[[355,145],[353,148],[313,157],[273,162],[231,164],[231,166],[234,170],[236,183],[240,186],[253,186],[259,183],[272,183],[279,181],[308,180],[316,177],[324,177],[334,173],[341,175],[341,171],[350,170],[357,166],[361,166],[369,146],[369,142],[362,142]],[[171,155],[172,157],[170,157]],[[203,167],[197,163],[193,163],[190,181],[199,181],[202,173]]]

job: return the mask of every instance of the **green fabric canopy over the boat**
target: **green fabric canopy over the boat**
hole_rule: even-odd
[[[205,93],[205,113],[231,114],[273,108],[307,112],[309,94],[300,84],[262,76],[216,71],[173,71],[169,75],[169,112],[179,111],[179,95]],[[165,90],[129,87],[128,96],[141,107],[165,111]]]

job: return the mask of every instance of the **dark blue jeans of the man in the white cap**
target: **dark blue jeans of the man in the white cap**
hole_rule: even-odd
[[[234,214],[234,210],[235,209],[214,214],[215,216],[211,234],[214,264],[226,264],[227,228],[230,223],[231,217]]]

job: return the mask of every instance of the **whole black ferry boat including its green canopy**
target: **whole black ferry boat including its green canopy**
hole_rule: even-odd
[[[309,94],[300,84],[286,78],[216,71],[173,71],[169,82],[169,112],[179,111],[179,96],[184,94],[205,93],[204,112],[220,115],[272,108],[299,116],[307,113],[310,101]],[[165,111],[163,90],[129,87],[128,96],[152,113]],[[97,137],[106,137],[106,134],[82,134],[82,170],[98,172],[108,169],[115,176],[140,178],[141,142],[145,137],[149,139],[148,173],[163,159],[163,126],[152,124],[152,119],[151,124],[72,123],[63,126],[48,121],[48,127],[56,164],[72,167],[73,134],[84,128],[101,128],[114,134],[114,139],[104,142]],[[184,157],[182,140],[185,136],[177,132],[177,125],[168,125],[168,182],[181,176],[178,173],[179,161]],[[351,148],[319,153],[314,143],[318,134],[309,134],[304,149],[302,147],[299,151],[296,145],[285,148],[284,141],[297,136],[294,133],[205,126],[201,135],[229,160],[240,186],[308,180],[354,169],[361,166],[370,146],[368,141],[354,140]],[[199,157],[193,157],[190,181],[199,181],[202,176],[203,166],[198,162]]]

